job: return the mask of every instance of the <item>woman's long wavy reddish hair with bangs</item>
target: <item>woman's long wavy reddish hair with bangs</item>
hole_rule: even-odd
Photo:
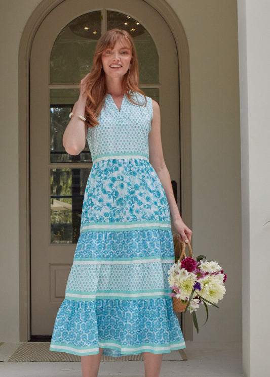
[[[131,51],[131,61],[130,68],[127,73],[123,76],[122,88],[129,99],[135,105],[143,105],[137,103],[133,98],[134,92],[139,92],[144,96],[145,104],[146,98],[143,91],[138,87],[139,83],[139,69],[138,69],[138,59],[133,39],[131,35],[126,30],[111,29],[104,33],[98,40],[95,54],[93,67],[88,76],[86,83],[86,92],[88,99],[86,101],[86,124],[88,127],[95,127],[99,124],[97,117],[101,112],[106,94],[106,79],[105,73],[102,69],[102,53],[106,49],[113,49],[114,44],[120,40],[125,46],[127,46]]]

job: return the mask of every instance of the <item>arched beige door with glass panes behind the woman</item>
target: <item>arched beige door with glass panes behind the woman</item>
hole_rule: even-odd
[[[87,148],[80,156],[65,153],[62,133],[78,99],[80,80],[91,68],[96,41],[114,27],[133,35],[140,87],[160,103],[165,160],[180,198],[178,59],[168,25],[142,0],[60,3],[37,30],[30,57],[32,335],[52,333],[92,165]]]

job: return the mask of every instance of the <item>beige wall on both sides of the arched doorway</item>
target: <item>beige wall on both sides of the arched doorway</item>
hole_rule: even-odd
[[[40,0],[0,0],[4,20],[0,62],[1,221],[0,341],[19,340],[18,281],[18,48]],[[241,338],[240,126],[235,0],[168,0],[189,43],[192,120],[192,198],[195,254],[217,259],[228,273],[227,295],[197,340]],[[11,152],[12,151],[12,152]],[[8,156],[8,157],[7,157]],[[6,166],[4,166],[4,162]],[[5,240],[5,241],[4,241]],[[234,305],[235,309],[232,309]],[[204,313],[199,316],[202,323]]]

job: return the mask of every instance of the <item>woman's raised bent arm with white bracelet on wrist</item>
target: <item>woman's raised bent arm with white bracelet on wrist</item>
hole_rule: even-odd
[[[81,92],[78,101],[74,104],[70,119],[63,134],[63,146],[69,155],[79,155],[85,148],[88,127],[78,115],[85,117],[87,94],[85,79],[81,81]]]

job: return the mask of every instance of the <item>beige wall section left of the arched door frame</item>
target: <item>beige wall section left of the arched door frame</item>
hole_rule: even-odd
[[[40,1],[0,1],[0,342],[19,340],[18,50],[24,26]]]

